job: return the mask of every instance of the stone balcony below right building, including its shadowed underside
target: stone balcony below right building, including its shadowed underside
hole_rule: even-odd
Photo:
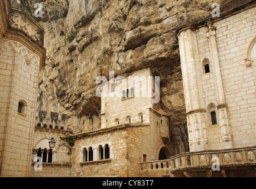
[[[141,175],[144,177],[255,177],[255,154],[256,146],[186,152],[163,161],[140,163]],[[238,172],[235,171],[237,168],[239,168]]]

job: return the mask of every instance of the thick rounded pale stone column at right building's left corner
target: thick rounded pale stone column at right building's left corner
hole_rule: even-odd
[[[179,45],[190,151],[203,151],[208,149],[208,129],[196,32],[180,32]]]

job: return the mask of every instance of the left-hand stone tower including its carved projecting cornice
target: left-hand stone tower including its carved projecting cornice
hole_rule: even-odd
[[[28,177],[44,30],[22,10],[0,2],[0,171]]]

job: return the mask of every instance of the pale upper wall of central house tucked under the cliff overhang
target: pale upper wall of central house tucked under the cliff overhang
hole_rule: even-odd
[[[122,99],[122,90],[118,90],[118,87],[122,84],[121,81],[115,83],[115,93],[111,93],[111,87],[109,87],[111,82],[108,82],[108,94],[104,93],[102,97],[102,127],[118,125],[115,119],[119,119],[120,124],[129,123],[126,119],[128,116],[131,117],[131,123],[141,122],[140,113],[143,115],[143,122],[149,122],[149,116],[145,109],[152,107],[147,93],[150,90],[150,87],[148,87],[148,76],[151,76],[151,71],[150,69],[135,71],[131,76],[135,80],[132,86],[134,88],[133,97]],[[145,83],[140,81],[145,81]],[[127,87],[125,87],[125,92],[127,92],[129,87],[128,83],[128,78],[126,78]],[[142,96],[142,92],[145,96]],[[119,97],[116,97],[116,95],[119,95]]]

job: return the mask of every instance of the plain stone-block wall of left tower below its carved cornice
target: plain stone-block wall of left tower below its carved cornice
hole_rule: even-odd
[[[0,53],[1,176],[25,177],[30,170],[40,58],[18,41],[3,39]],[[18,113],[18,103],[24,104]]]

